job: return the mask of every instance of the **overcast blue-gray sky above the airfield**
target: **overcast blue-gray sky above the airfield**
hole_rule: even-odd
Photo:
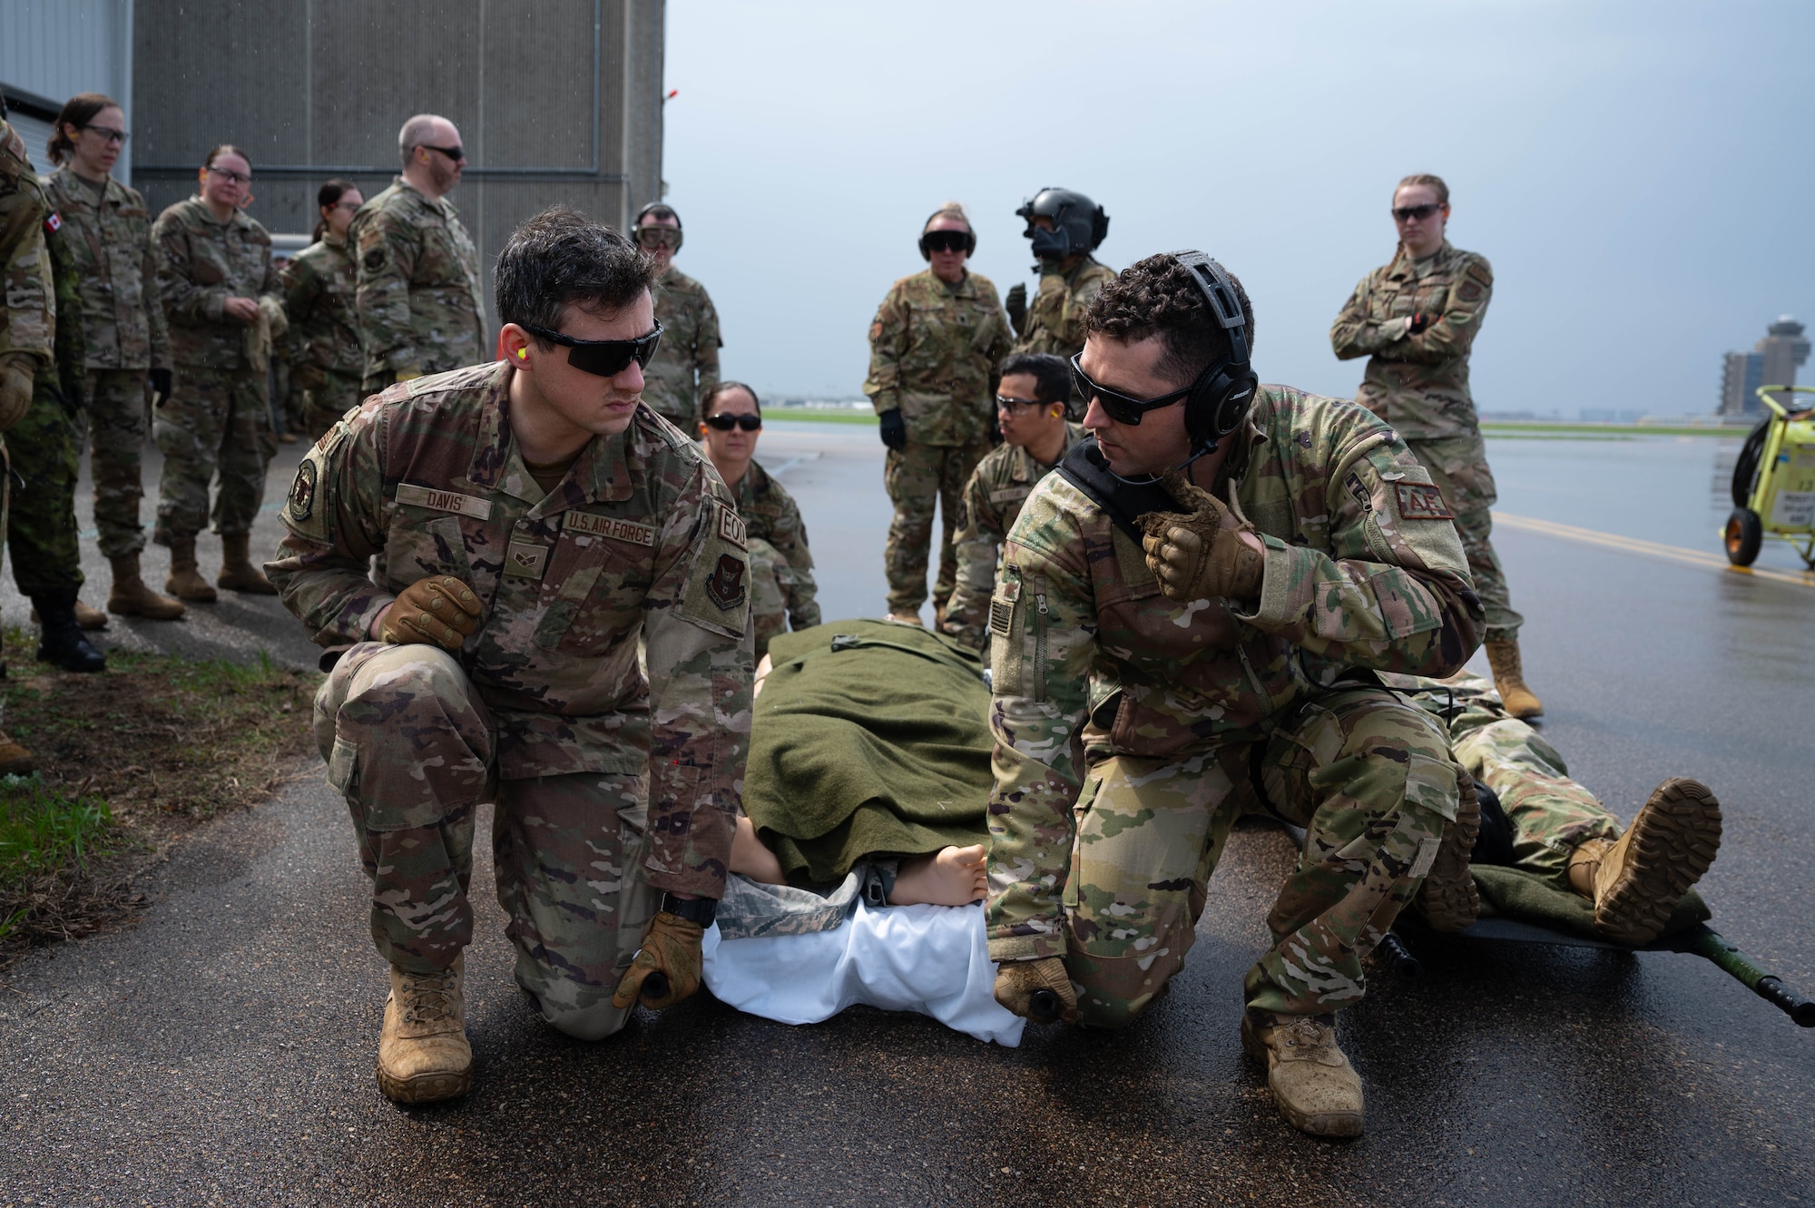
[[[964,201],[973,268],[1031,288],[1015,209],[1065,185],[1111,267],[1234,270],[1263,381],[1349,395],[1330,319],[1392,256],[1394,181],[1437,172],[1494,265],[1483,410],[1710,412],[1722,352],[1815,319],[1811,33],[1739,0],[670,0],[677,263],[728,375],[855,397],[922,219]]]

